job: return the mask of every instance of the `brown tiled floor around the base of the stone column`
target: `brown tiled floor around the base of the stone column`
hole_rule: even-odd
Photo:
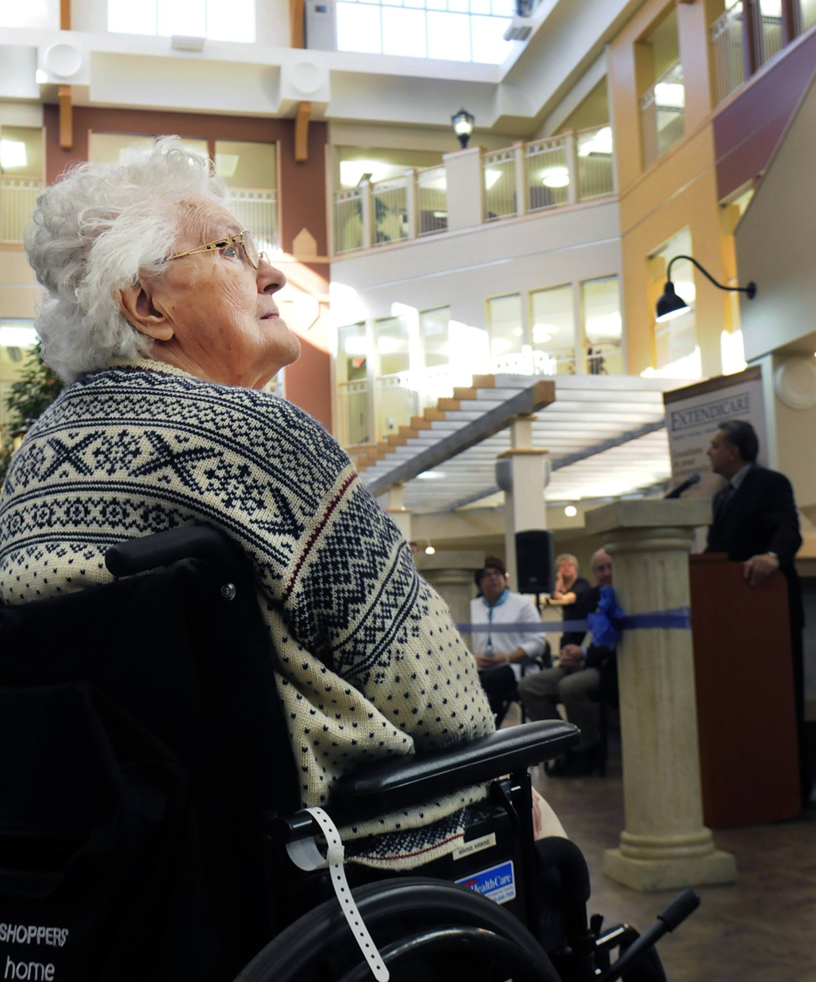
[[[675,892],[639,894],[604,877],[603,850],[618,845],[624,806],[620,751],[609,776],[551,779],[534,772],[592,877],[590,912],[647,927]],[[816,982],[816,807],[773,826],[715,831],[736,856],[738,882],[701,887],[702,904],[660,943],[669,982]]]

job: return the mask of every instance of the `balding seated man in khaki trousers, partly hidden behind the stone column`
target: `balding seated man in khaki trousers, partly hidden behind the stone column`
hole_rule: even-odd
[[[575,604],[580,619],[598,606],[600,588],[612,585],[612,560],[604,549],[592,556],[592,572],[598,585],[583,594],[583,603]],[[599,729],[598,693],[617,702],[618,672],[615,650],[589,644],[581,646],[584,635],[578,632],[578,643],[563,644],[557,668],[544,669],[518,682],[518,694],[531,720],[559,719],[558,704],[567,709],[567,719],[581,732],[577,749],[552,764],[551,777],[576,777],[600,768],[601,735]]]

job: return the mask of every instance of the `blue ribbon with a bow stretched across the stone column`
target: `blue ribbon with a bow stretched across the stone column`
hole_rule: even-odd
[[[611,586],[602,586],[598,610],[587,615],[585,621],[542,621],[540,624],[518,621],[514,624],[458,624],[457,627],[462,634],[484,634],[488,631],[494,634],[561,634],[589,630],[592,632],[593,644],[614,648],[625,630],[655,627],[689,630],[691,609],[674,607],[666,611],[627,616],[618,605],[615,590]]]

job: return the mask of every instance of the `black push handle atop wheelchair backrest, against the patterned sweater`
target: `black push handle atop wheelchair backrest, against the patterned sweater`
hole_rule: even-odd
[[[105,566],[114,576],[133,576],[185,559],[227,562],[235,554],[235,544],[223,532],[207,525],[185,525],[111,546]]]

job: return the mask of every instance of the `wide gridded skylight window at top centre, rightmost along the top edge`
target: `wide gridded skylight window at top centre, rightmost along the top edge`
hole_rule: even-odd
[[[513,0],[341,0],[339,51],[501,65]]]

